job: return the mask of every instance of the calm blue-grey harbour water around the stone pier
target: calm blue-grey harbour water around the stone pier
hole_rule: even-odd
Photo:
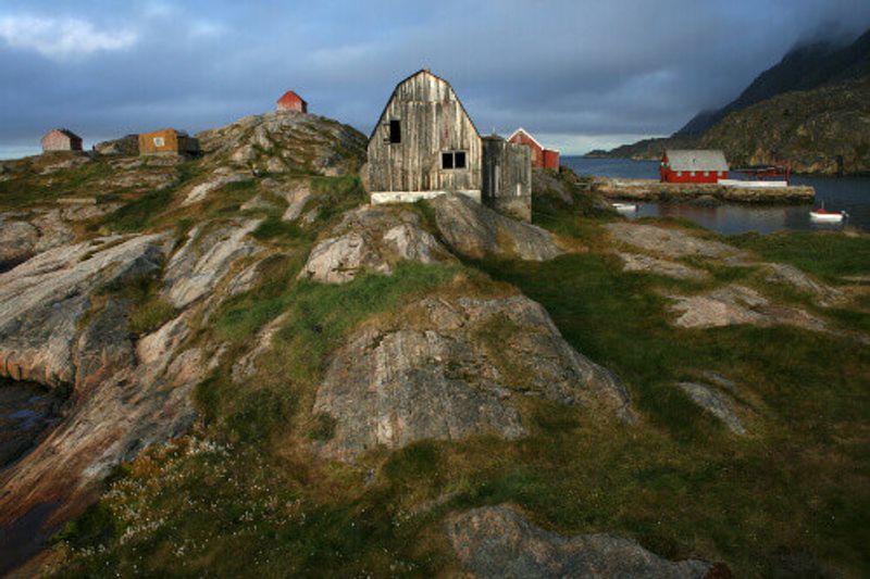
[[[564,156],[562,162],[579,175],[658,179],[657,161],[630,159],[584,159]],[[830,211],[846,211],[846,225],[870,231],[870,177],[803,177],[792,178],[795,185],[816,188],[816,206],[822,202]],[[811,205],[741,205],[723,204],[701,207],[692,203],[637,203],[635,216],[670,216],[691,219],[708,229],[732,235],[746,231],[769,234],[781,229],[840,229],[842,225],[817,225],[809,221]]]

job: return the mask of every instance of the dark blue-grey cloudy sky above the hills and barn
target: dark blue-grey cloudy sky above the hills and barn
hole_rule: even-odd
[[[446,77],[477,127],[566,153],[669,134],[868,0],[0,0],[0,159],[66,126],[191,131],[287,88],[368,133],[395,84]]]

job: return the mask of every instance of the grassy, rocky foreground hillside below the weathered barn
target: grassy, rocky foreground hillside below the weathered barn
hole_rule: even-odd
[[[866,500],[866,237],[631,224],[570,171],[533,224],[370,205],[340,123],[198,138],[4,162],[0,572],[862,569],[829,521]]]

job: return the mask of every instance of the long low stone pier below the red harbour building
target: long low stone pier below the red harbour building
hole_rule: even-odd
[[[608,199],[631,201],[719,201],[729,203],[812,203],[810,186],[726,187],[713,184],[673,184],[654,179],[596,177],[594,192]]]

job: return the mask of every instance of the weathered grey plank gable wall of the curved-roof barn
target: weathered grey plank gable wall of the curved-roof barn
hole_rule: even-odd
[[[401,142],[389,142],[389,122],[401,123]],[[465,152],[465,168],[442,168],[442,153]],[[477,129],[450,85],[421,71],[393,92],[369,141],[372,191],[481,189]]]

